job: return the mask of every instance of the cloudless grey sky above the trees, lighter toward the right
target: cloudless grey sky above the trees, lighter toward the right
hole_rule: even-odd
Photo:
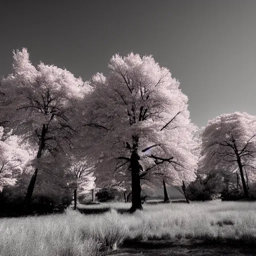
[[[256,114],[255,0],[8,0],[0,9],[0,75],[22,47],[32,62],[84,80],[133,51],[179,79],[198,126],[221,113]]]

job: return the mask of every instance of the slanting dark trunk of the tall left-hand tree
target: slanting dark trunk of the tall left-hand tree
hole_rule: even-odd
[[[39,140],[39,146],[38,146],[38,151],[37,151],[37,155],[36,155],[36,158],[40,158],[41,155],[42,155],[42,151],[43,151],[43,148],[44,148],[44,136],[45,136],[45,132],[46,132],[46,129],[45,129],[45,124],[42,125],[42,132],[41,132],[41,138]],[[38,168],[35,169],[31,179],[30,179],[30,182],[29,182],[29,185],[27,187],[27,192],[26,192],[26,196],[25,196],[25,203],[24,203],[24,211],[25,213],[28,212],[28,205],[31,201],[31,198],[32,198],[32,193],[33,193],[33,190],[34,190],[34,184],[35,184],[35,181],[36,181],[36,176],[37,176],[37,172],[38,172]]]

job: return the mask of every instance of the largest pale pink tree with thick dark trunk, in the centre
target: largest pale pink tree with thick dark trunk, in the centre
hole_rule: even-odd
[[[195,127],[179,82],[152,56],[116,54],[108,67],[107,77],[97,73],[90,80],[93,91],[86,98],[84,132],[93,139],[85,143],[103,162],[117,160],[115,174],[131,176],[134,211],[142,208],[141,180],[148,185],[160,184],[162,178],[168,183],[193,180]]]

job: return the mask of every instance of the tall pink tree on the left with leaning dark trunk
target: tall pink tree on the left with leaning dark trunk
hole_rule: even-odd
[[[38,144],[37,159],[68,147],[74,131],[70,119],[74,120],[75,104],[86,90],[82,79],[54,65],[32,65],[26,48],[13,51],[12,66],[13,73],[1,81],[10,125]],[[6,109],[6,104],[3,107]],[[40,166],[35,168],[28,185],[25,208],[31,200],[38,169]]]

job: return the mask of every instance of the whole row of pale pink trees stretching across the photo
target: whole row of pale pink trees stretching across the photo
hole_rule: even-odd
[[[142,209],[141,189],[163,179],[187,202],[253,195],[255,117],[223,114],[199,129],[179,81],[151,55],[115,54],[109,74],[88,81],[32,64],[25,48],[13,51],[12,66],[0,78],[5,209],[15,198],[22,214],[46,202],[53,211],[72,197],[76,208],[96,185],[129,191],[133,212]]]

